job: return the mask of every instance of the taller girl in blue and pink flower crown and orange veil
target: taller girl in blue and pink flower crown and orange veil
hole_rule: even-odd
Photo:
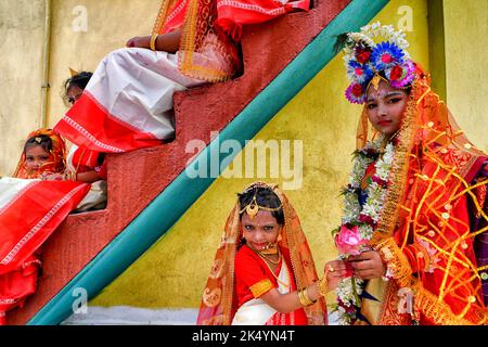
[[[333,232],[354,270],[336,290],[339,323],[486,323],[487,155],[431,90],[402,33],[375,23],[343,41],[346,98],[364,108]]]

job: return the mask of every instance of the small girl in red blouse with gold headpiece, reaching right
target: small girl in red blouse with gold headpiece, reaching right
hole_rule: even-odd
[[[345,268],[318,280],[300,222],[284,194],[253,183],[232,209],[205,287],[198,324],[326,324],[324,294]]]

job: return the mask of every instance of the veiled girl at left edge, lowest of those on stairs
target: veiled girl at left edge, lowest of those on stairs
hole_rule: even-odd
[[[44,172],[64,172],[65,156],[64,140],[39,129],[28,136],[14,178],[0,179],[0,325],[36,292],[42,243],[89,189],[39,180]]]

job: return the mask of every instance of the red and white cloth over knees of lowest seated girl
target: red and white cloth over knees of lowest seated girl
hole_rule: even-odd
[[[23,266],[89,189],[75,181],[0,179],[0,275]]]

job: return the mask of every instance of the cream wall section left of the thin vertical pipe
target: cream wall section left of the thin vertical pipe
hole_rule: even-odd
[[[42,0],[0,1],[0,176],[11,175],[41,107]]]

